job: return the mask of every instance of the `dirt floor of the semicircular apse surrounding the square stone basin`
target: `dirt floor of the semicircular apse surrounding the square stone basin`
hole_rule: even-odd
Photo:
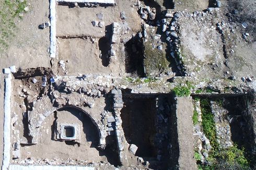
[[[56,119],[57,118],[57,119]],[[76,124],[82,127],[80,143],[54,141],[54,123],[55,120],[65,124]],[[21,147],[22,159],[62,159],[62,160],[87,160],[90,162],[117,162],[117,157],[111,154],[99,151],[97,145],[99,142],[98,131],[90,118],[85,113],[67,108],[63,111],[57,111],[55,114],[47,117],[40,127],[39,143],[29,147]]]

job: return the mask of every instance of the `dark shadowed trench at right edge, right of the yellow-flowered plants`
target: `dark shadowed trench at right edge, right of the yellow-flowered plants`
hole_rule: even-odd
[[[225,114],[223,118],[227,120],[228,126],[230,126],[230,135],[228,133],[224,133],[224,131],[218,131],[218,136],[223,136],[223,139],[228,139],[230,136],[230,141],[237,144],[239,149],[245,148],[246,158],[249,160],[250,166],[252,168],[256,167],[256,129],[254,126],[256,120],[254,116],[256,106],[255,95],[249,92],[248,94],[205,94],[196,96],[200,97],[201,100],[207,100],[208,103],[214,101],[219,105],[219,109],[216,110],[215,108],[215,114],[222,113],[222,111],[224,111]],[[202,109],[204,108],[201,107],[201,110]],[[213,112],[212,104],[211,110]],[[219,120],[214,120],[214,122],[216,121],[219,122]],[[222,124],[218,123],[218,129],[225,129],[225,123],[222,122],[222,120],[220,120],[220,123]]]

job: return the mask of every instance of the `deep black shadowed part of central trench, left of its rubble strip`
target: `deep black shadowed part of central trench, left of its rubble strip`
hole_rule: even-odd
[[[137,145],[137,156],[156,157],[153,146],[155,136],[155,100],[124,98],[121,110],[122,127],[129,144]]]

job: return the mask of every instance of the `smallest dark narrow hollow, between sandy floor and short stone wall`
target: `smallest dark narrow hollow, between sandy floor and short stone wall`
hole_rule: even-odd
[[[99,50],[101,51],[101,62],[104,67],[109,65],[108,51],[111,49],[111,42],[107,37],[99,39]]]

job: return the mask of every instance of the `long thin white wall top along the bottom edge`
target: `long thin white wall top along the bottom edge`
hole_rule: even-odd
[[[10,165],[9,170],[94,170],[88,166]]]

